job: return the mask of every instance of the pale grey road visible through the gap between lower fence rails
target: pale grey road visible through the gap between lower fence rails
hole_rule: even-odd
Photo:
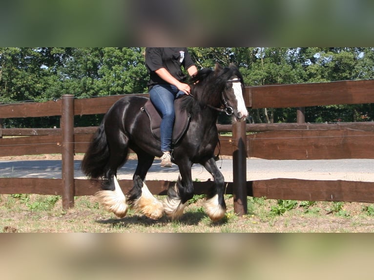
[[[84,178],[80,170],[83,155],[76,155],[75,178]],[[161,168],[155,159],[146,180],[177,180],[178,167]],[[132,179],[137,164],[136,156],[130,156],[119,170],[118,178]],[[232,181],[232,160],[223,157],[217,161],[226,181]],[[61,178],[61,155],[0,157],[0,177]],[[374,160],[263,160],[247,159],[247,180],[294,178],[304,180],[374,181]],[[192,167],[193,180],[212,179],[199,164]]]

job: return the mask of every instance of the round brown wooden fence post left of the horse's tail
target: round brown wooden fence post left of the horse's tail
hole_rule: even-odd
[[[74,95],[62,95],[62,209],[74,207]]]

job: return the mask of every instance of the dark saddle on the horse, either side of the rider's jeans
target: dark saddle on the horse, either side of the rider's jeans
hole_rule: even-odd
[[[171,143],[173,145],[177,144],[179,140],[182,139],[183,135],[187,131],[189,120],[191,118],[190,114],[188,114],[185,110],[180,109],[180,99],[174,100],[174,107],[175,107],[175,121],[173,127],[173,135]],[[141,108],[142,112],[145,112],[149,117],[150,121],[150,129],[152,131],[153,136],[160,140],[160,126],[162,116],[157,111],[157,109],[153,106],[151,100],[147,100],[145,102],[144,107]]]

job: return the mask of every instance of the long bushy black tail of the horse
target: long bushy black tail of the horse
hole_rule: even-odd
[[[105,175],[109,160],[109,147],[104,130],[104,120],[96,130],[82,160],[81,168],[87,177],[100,178]]]

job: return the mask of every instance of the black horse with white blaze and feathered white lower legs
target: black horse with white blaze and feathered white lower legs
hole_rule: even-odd
[[[148,98],[125,96],[108,110],[82,161],[84,174],[103,179],[102,191],[96,196],[108,210],[125,217],[128,206],[151,219],[164,213],[178,219],[186,203],[193,197],[191,167],[202,164],[213,176],[213,184],[205,201],[206,213],[217,221],[225,216],[224,177],[217,168],[214,151],[218,143],[216,121],[220,112],[242,120],[248,112],[243,100],[244,83],[234,65],[202,69],[191,78],[191,94],[178,98],[181,110],[190,116],[187,130],[173,147],[173,162],[180,176],[175,186],[169,187],[164,202],[157,200],[145,185],[145,176],[155,157],[161,157],[160,140],[150,129],[150,120],[144,113]],[[128,151],[138,157],[133,176],[134,186],[125,195],[116,178],[117,169],[125,164]]]

